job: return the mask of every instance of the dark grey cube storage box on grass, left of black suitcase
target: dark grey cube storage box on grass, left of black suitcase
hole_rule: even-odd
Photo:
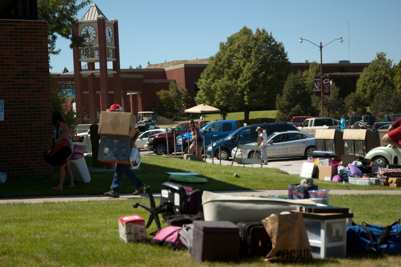
[[[203,260],[237,260],[240,227],[230,221],[193,221],[191,257]]]

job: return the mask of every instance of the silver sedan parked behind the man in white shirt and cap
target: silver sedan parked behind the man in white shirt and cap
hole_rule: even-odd
[[[316,150],[315,137],[300,131],[276,131],[267,137],[267,158],[312,157]],[[232,158],[241,161],[243,158],[260,159],[258,143],[252,142],[256,150],[234,148]]]

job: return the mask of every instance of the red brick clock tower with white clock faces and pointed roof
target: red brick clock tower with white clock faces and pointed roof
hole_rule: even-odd
[[[97,112],[106,110],[111,104],[117,103],[124,108],[125,101],[121,95],[118,22],[116,19],[108,21],[95,3],[80,21],[76,21],[79,25],[75,28],[75,33],[82,36],[87,44],[85,47],[73,49],[76,107],[77,111],[83,107],[84,92],[88,92],[90,122],[97,123]],[[108,69],[110,61],[112,69]],[[87,63],[87,69],[82,69],[83,62]],[[99,83],[95,82],[97,78]],[[114,99],[109,100],[109,92],[113,92]],[[97,93],[100,93],[100,106]]]

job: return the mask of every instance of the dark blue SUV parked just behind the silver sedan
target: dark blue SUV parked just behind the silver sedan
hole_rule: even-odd
[[[275,131],[282,130],[296,130],[299,129],[292,124],[291,122],[274,122],[274,123],[263,123],[263,124],[254,124],[241,127],[236,131],[232,132],[230,135],[225,137],[222,140],[216,141],[211,146],[206,149],[206,155],[208,157],[216,157],[222,160],[228,160],[231,156],[231,150],[239,143],[247,144],[251,142],[257,142],[258,140],[258,132],[256,128],[260,126],[262,129],[267,130],[267,135]],[[220,147],[220,156],[219,156],[219,147]]]

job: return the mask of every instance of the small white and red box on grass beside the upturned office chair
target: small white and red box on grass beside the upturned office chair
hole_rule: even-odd
[[[125,243],[146,242],[145,220],[136,214],[119,217],[118,231]]]

